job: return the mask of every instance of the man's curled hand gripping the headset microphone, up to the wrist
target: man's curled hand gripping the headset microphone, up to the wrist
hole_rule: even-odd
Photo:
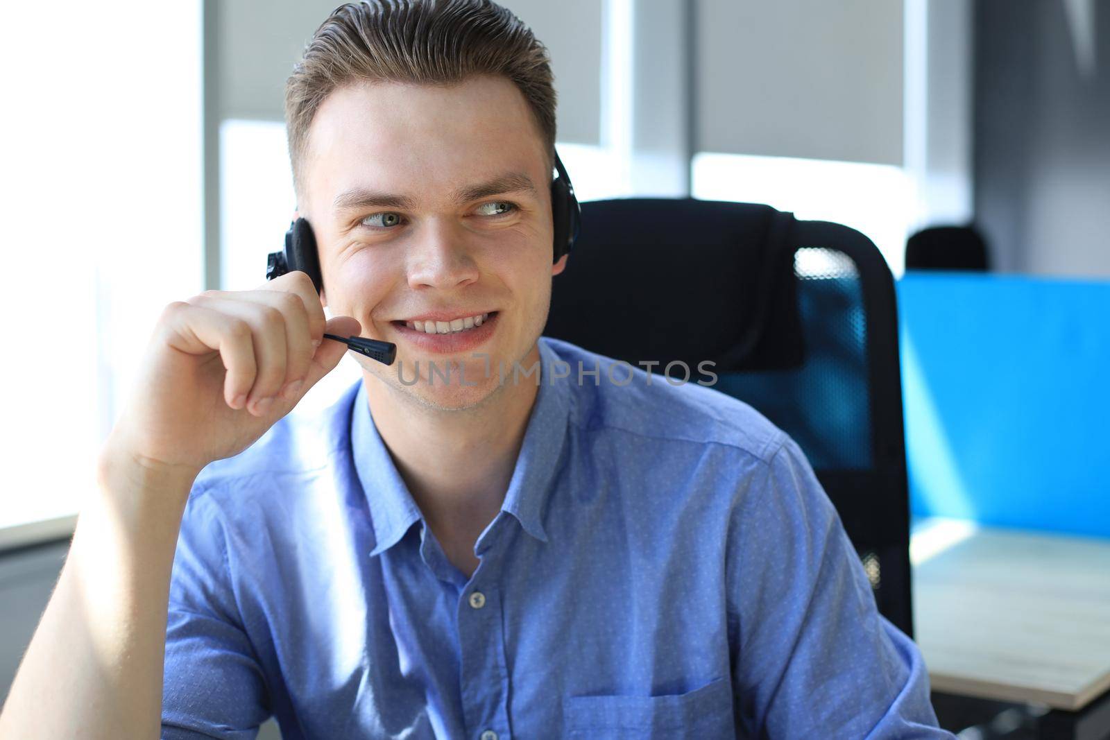
[[[350,316],[325,320],[303,272],[254,291],[205,291],[162,312],[102,463],[193,470],[253,444],[342,359]]]

